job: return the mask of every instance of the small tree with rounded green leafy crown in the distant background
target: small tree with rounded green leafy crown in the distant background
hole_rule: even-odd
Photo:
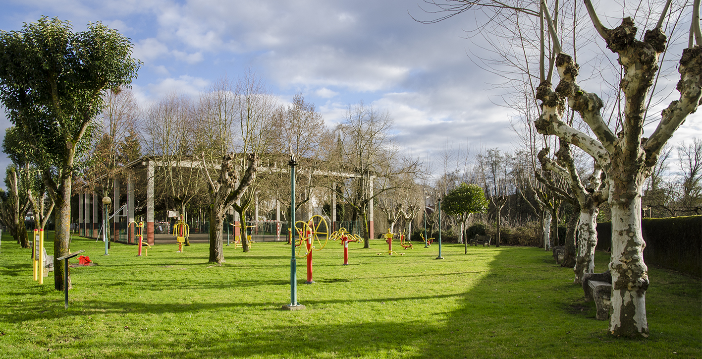
[[[465,247],[465,253],[468,253],[468,238],[463,236],[463,228],[465,221],[468,221],[471,214],[485,211],[487,209],[487,200],[485,192],[476,184],[461,183],[457,188],[449,191],[444,197],[442,209],[451,216],[456,216],[461,222],[461,240]]]

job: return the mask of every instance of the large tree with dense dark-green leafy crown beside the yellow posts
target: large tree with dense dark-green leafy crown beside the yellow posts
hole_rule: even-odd
[[[76,158],[91,143],[103,96],[137,76],[131,50],[128,38],[101,22],[73,32],[69,22],[43,17],[20,31],[0,31],[0,100],[55,202],[54,260],[69,253]],[[55,289],[63,289],[64,278],[70,288],[69,273],[55,268]]]

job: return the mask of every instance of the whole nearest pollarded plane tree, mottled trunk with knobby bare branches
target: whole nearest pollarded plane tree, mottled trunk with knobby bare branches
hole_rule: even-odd
[[[583,149],[607,173],[608,202],[613,223],[616,223],[612,230],[613,247],[609,264],[613,280],[609,331],[615,335],[648,335],[645,293],[649,278],[642,256],[644,241],[641,234],[640,193],[663,145],[684,119],[696,110],[701,94],[702,36],[699,30],[699,2],[694,1],[691,8],[682,7],[683,11],[687,9],[692,12],[693,21],[689,46],[682,51],[678,63],[680,81],[677,90],[680,98],[673,100],[660,112],[658,125],[651,136],[643,136],[644,119],[649,110],[647,94],[654,85],[661,53],[666,49],[667,37],[663,34],[663,22],[668,5],[670,1],[666,3],[658,21],[651,25],[653,28],[639,40],[636,39],[637,29],[631,18],[623,19],[615,29],[608,29],[597,18],[590,1],[585,1],[585,8],[597,35],[604,39],[604,44],[617,56],[618,64],[621,65],[621,77],[613,77],[618,79],[618,89],[621,89],[623,100],[622,107],[614,105],[616,112],[621,113],[621,117],[615,116],[621,121],[616,122],[614,130],[602,116],[602,99],[578,86],[576,78],[579,67],[574,58],[563,53],[560,48],[559,37],[545,2],[542,1],[539,6],[549,29],[549,39],[554,44],[554,53],[557,54],[555,65],[560,81],[554,91],[551,81],[540,76],[542,82],[537,90],[537,98],[541,100],[542,115],[536,121],[536,128],[540,133],[565,138]],[[696,44],[693,44],[693,39]],[[593,136],[562,121],[566,107],[580,115]]]

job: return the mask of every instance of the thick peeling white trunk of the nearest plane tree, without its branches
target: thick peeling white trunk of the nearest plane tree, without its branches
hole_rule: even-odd
[[[648,268],[644,263],[644,242],[641,233],[640,182],[628,190],[630,196],[611,196],[612,254],[609,270],[612,275],[611,316],[609,332],[635,332],[648,337],[646,289]],[[614,187],[614,183],[611,183]],[[620,184],[621,186],[621,184]],[[623,187],[623,186],[621,186]]]

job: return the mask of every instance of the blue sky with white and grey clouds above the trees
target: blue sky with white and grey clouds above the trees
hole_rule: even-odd
[[[431,18],[421,0],[3,3],[1,30],[47,15],[70,20],[75,30],[100,20],[131,38],[133,56],[144,63],[133,82],[143,105],[169,91],[197,98],[218,77],[251,69],[282,100],[303,93],[330,125],[359,101],[388,110],[399,145],[413,156],[432,158],[447,143],[474,151],[518,146],[514,114],[496,105],[498,79],[468,56],[479,51],[464,38],[472,16],[424,25],[411,18]],[[687,119],[673,142],[702,137],[701,118]],[[10,125],[0,120],[3,129]],[[0,158],[1,167],[7,163]]]

